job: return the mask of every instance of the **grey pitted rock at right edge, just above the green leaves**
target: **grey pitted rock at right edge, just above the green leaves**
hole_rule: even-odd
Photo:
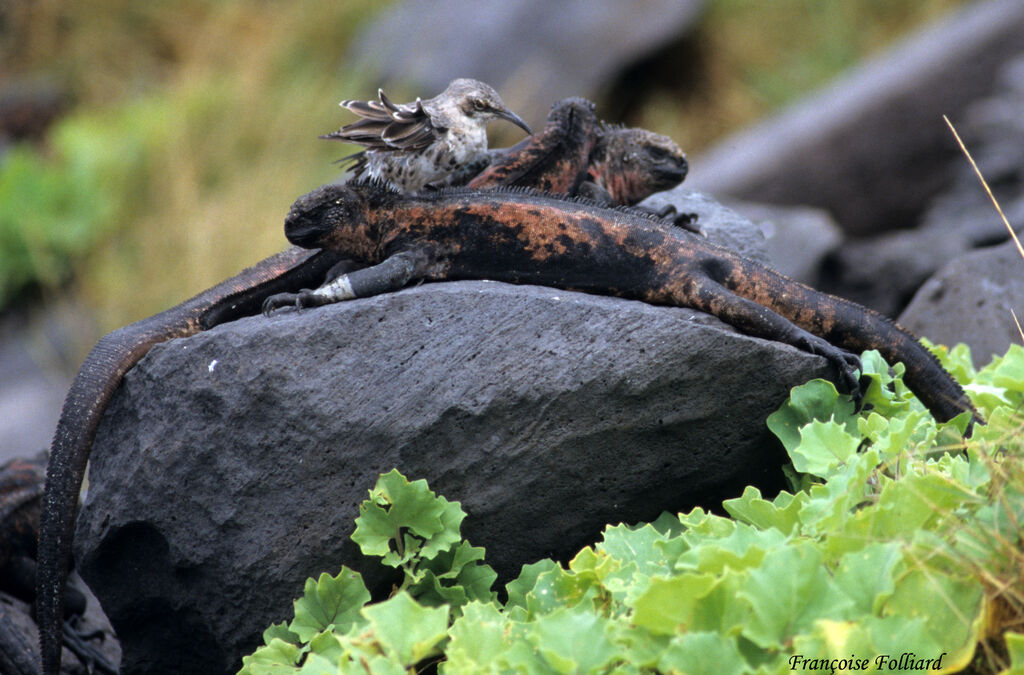
[[[899,322],[933,342],[966,342],[976,366],[1006,353],[1024,322],[1024,259],[1013,242],[962,256],[921,287]]]

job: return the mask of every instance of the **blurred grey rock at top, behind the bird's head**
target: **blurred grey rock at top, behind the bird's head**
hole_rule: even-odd
[[[539,122],[594,97],[620,71],[685,34],[702,0],[407,0],[354,43],[346,68],[433,95],[457,77],[497,87]]]

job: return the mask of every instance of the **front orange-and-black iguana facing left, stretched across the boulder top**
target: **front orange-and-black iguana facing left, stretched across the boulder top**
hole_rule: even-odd
[[[691,307],[739,331],[820,354],[856,389],[859,358],[878,349],[941,421],[977,413],[916,338],[882,314],[634,209],[532,192],[449,188],[398,195],[330,185],[300,198],[285,222],[297,246],[370,267],[315,291],[272,296],[264,310],[394,291],[411,282],[488,279]]]

